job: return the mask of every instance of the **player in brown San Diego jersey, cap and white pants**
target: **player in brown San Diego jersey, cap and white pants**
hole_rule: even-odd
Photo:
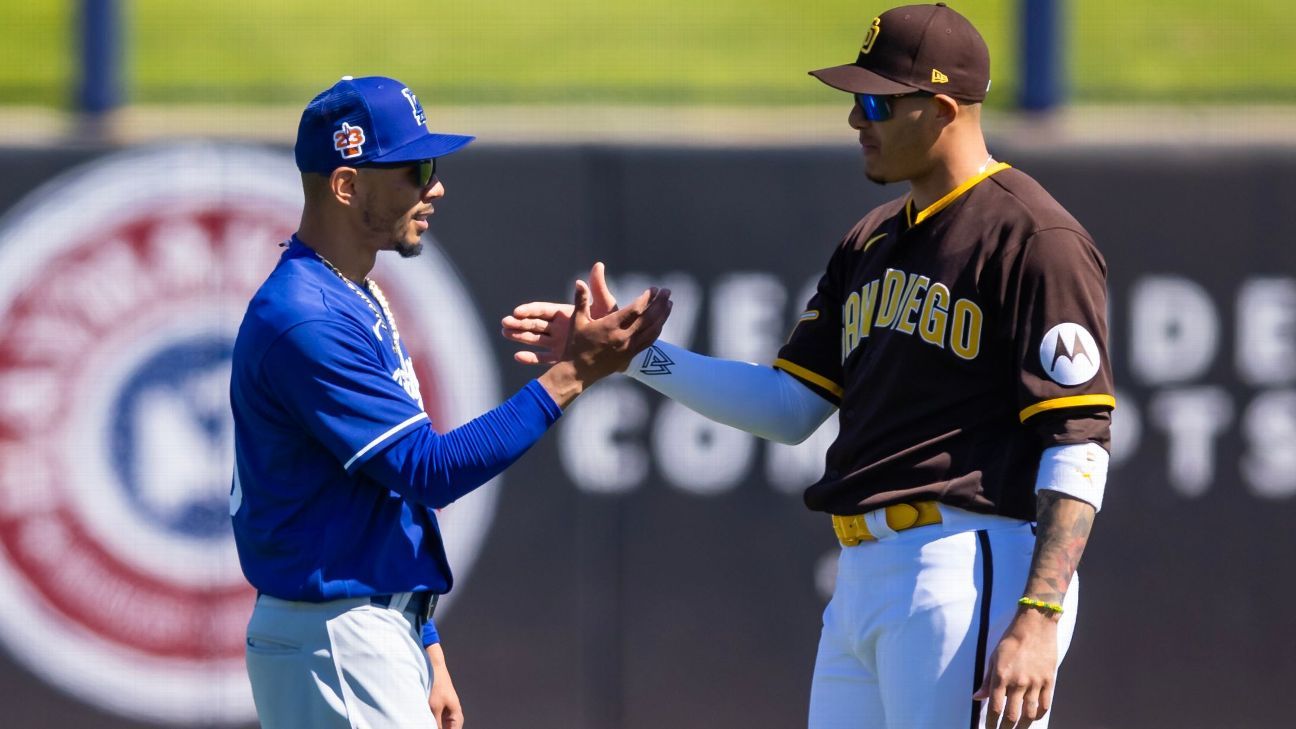
[[[1045,726],[1107,479],[1105,263],[988,153],[990,58],[963,16],[894,8],[854,64],[811,73],[854,96],[868,178],[908,193],[839,243],[772,367],[658,341],[627,374],[783,442],[840,410],[805,492],[842,545],[811,729]],[[591,283],[612,310],[601,266]],[[517,358],[561,352],[569,309],[505,318],[540,348]]]

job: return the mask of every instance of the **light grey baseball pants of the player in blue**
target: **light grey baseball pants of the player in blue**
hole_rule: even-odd
[[[248,677],[264,729],[435,729],[432,668],[399,610],[368,598],[260,595],[248,623]]]

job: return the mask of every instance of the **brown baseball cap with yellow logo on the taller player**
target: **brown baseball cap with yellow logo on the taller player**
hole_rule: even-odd
[[[874,18],[854,64],[810,71],[851,93],[931,91],[984,101],[990,49],[967,18],[945,3],[903,5]]]

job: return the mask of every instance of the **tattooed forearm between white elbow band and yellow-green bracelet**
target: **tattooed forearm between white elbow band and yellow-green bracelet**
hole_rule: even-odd
[[[1080,566],[1080,555],[1094,525],[1094,507],[1058,492],[1036,496],[1036,554],[1030,559],[1026,595],[1061,603]]]

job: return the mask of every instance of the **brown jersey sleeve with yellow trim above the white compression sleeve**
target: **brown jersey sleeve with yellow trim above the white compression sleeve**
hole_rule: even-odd
[[[805,311],[797,317],[792,335],[779,349],[774,367],[785,371],[820,397],[841,405],[841,280],[845,245],[839,245],[828,261]]]

